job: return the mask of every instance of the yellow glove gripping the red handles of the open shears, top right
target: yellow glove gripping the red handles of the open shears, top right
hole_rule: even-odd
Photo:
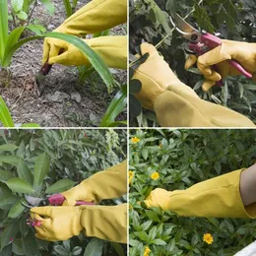
[[[230,66],[225,60],[233,59],[239,62],[243,68],[251,74],[256,72],[256,43],[223,40],[223,44],[205,53],[200,57],[190,55],[185,63],[185,69],[189,69],[196,62],[199,70],[205,76],[203,90],[209,91],[217,81],[227,76],[237,76],[241,73]],[[211,66],[217,64],[218,72]],[[256,81],[256,77],[254,77]]]

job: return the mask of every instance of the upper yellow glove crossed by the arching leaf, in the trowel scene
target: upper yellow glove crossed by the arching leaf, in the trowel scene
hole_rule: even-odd
[[[119,24],[127,22],[126,0],[93,0],[70,16],[54,32],[64,32],[74,35],[103,32]],[[45,38],[43,44],[42,64],[48,59],[58,56],[65,48],[63,40]]]

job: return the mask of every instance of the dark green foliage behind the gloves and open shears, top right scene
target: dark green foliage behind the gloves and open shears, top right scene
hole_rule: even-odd
[[[157,4],[157,5],[156,5]],[[256,122],[254,94],[256,85],[244,77],[225,80],[224,87],[215,87],[208,93],[202,91],[203,77],[196,68],[184,69],[187,41],[168,21],[170,11],[176,11],[195,28],[217,32],[222,38],[256,41],[256,6],[253,0],[130,0],[130,53],[139,52],[142,40],[157,45],[159,51],[178,78],[206,100],[222,104],[248,116]],[[166,37],[167,34],[171,34]],[[132,73],[132,72],[131,72]],[[130,92],[133,90],[131,89]],[[130,103],[130,105],[133,105]],[[131,114],[134,112],[130,108]],[[135,118],[133,126],[158,126],[155,113],[144,110]]]

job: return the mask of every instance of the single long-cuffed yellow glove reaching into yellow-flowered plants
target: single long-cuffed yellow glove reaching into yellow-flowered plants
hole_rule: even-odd
[[[185,217],[256,218],[256,204],[244,207],[240,196],[243,169],[193,185],[186,190],[155,189],[145,201]]]

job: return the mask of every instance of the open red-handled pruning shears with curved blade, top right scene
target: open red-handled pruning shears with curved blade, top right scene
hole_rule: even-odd
[[[199,32],[192,26],[190,26],[187,22],[184,21],[177,13],[172,13],[169,16],[169,20],[177,32],[180,32],[183,37],[189,40],[189,50],[187,51],[189,54],[193,54],[196,56],[203,55],[204,53],[222,45],[222,39],[218,36],[209,33],[209,32]],[[247,72],[240,63],[231,59],[226,60],[230,66],[235,68],[239,73],[244,75],[246,78],[252,78],[252,74]],[[217,68],[214,66],[214,69]]]

